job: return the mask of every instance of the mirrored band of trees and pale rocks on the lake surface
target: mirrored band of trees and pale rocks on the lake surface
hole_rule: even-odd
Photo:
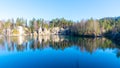
[[[8,51],[42,50],[47,47],[64,50],[77,47],[81,51],[92,53],[97,49],[119,49],[120,47],[105,38],[77,38],[64,36],[4,37],[0,39],[0,49]],[[3,50],[2,49],[2,50]],[[119,52],[117,52],[119,56]]]

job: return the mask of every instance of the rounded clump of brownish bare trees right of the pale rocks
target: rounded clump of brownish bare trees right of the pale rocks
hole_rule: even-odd
[[[79,36],[100,36],[101,34],[99,21],[92,18],[74,23],[70,27],[70,32],[72,35]]]

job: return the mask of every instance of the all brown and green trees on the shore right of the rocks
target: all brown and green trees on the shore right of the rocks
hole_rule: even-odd
[[[106,17],[99,20],[89,19],[74,23],[70,31],[72,35],[106,36],[110,39],[120,38],[120,17]],[[119,40],[120,41],[120,40]]]

